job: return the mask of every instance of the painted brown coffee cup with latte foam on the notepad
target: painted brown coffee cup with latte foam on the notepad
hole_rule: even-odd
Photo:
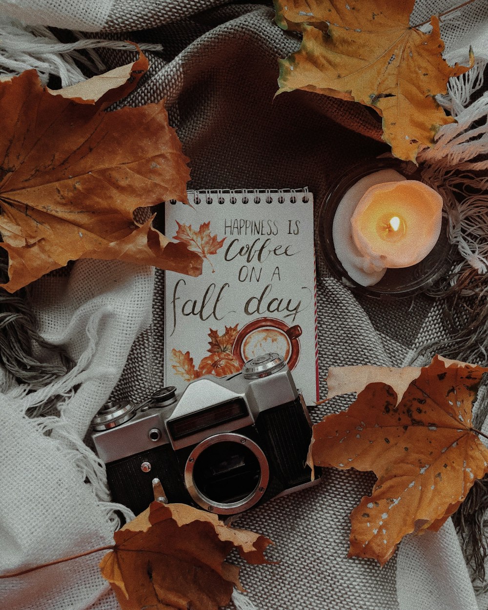
[[[256,356],[274,351],[283,356],[293,370],[300,358],[300,335],[298,325],[289,326],[277,318],[258,318],[240,329],[232,354],[243,365]]]

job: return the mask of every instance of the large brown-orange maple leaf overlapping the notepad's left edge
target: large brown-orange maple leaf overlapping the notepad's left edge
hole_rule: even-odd
[[[35,70],[0,82],[9,292],[81,258],[201,273],[195,253],[152,228],[152,219],[140,225],[133,217],[138,207],[186,198],[187,159],[163,103],[103,112],[111,101],[112,91],[95,104],[52,95]]]

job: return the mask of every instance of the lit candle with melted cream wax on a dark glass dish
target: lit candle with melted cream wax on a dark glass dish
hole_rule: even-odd
[[[340,202],[332,235],[350,277],[368,286],[387,268],[411,267],[436,245],[442,197],[431,187],[382,170],[359,180]]]

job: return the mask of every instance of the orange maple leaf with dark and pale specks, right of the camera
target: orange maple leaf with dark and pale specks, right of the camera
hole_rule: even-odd
[[[405,534],[437,531],[488,472],[488,449],[472,428],[472,403],[488,368],[434,357],[418,374],[410,371],[400,401],[377,368],[378,381],[347,411],[314,426],[309,455],[315,465],[378,477],[351,513],[350,556],[384,564]]]

